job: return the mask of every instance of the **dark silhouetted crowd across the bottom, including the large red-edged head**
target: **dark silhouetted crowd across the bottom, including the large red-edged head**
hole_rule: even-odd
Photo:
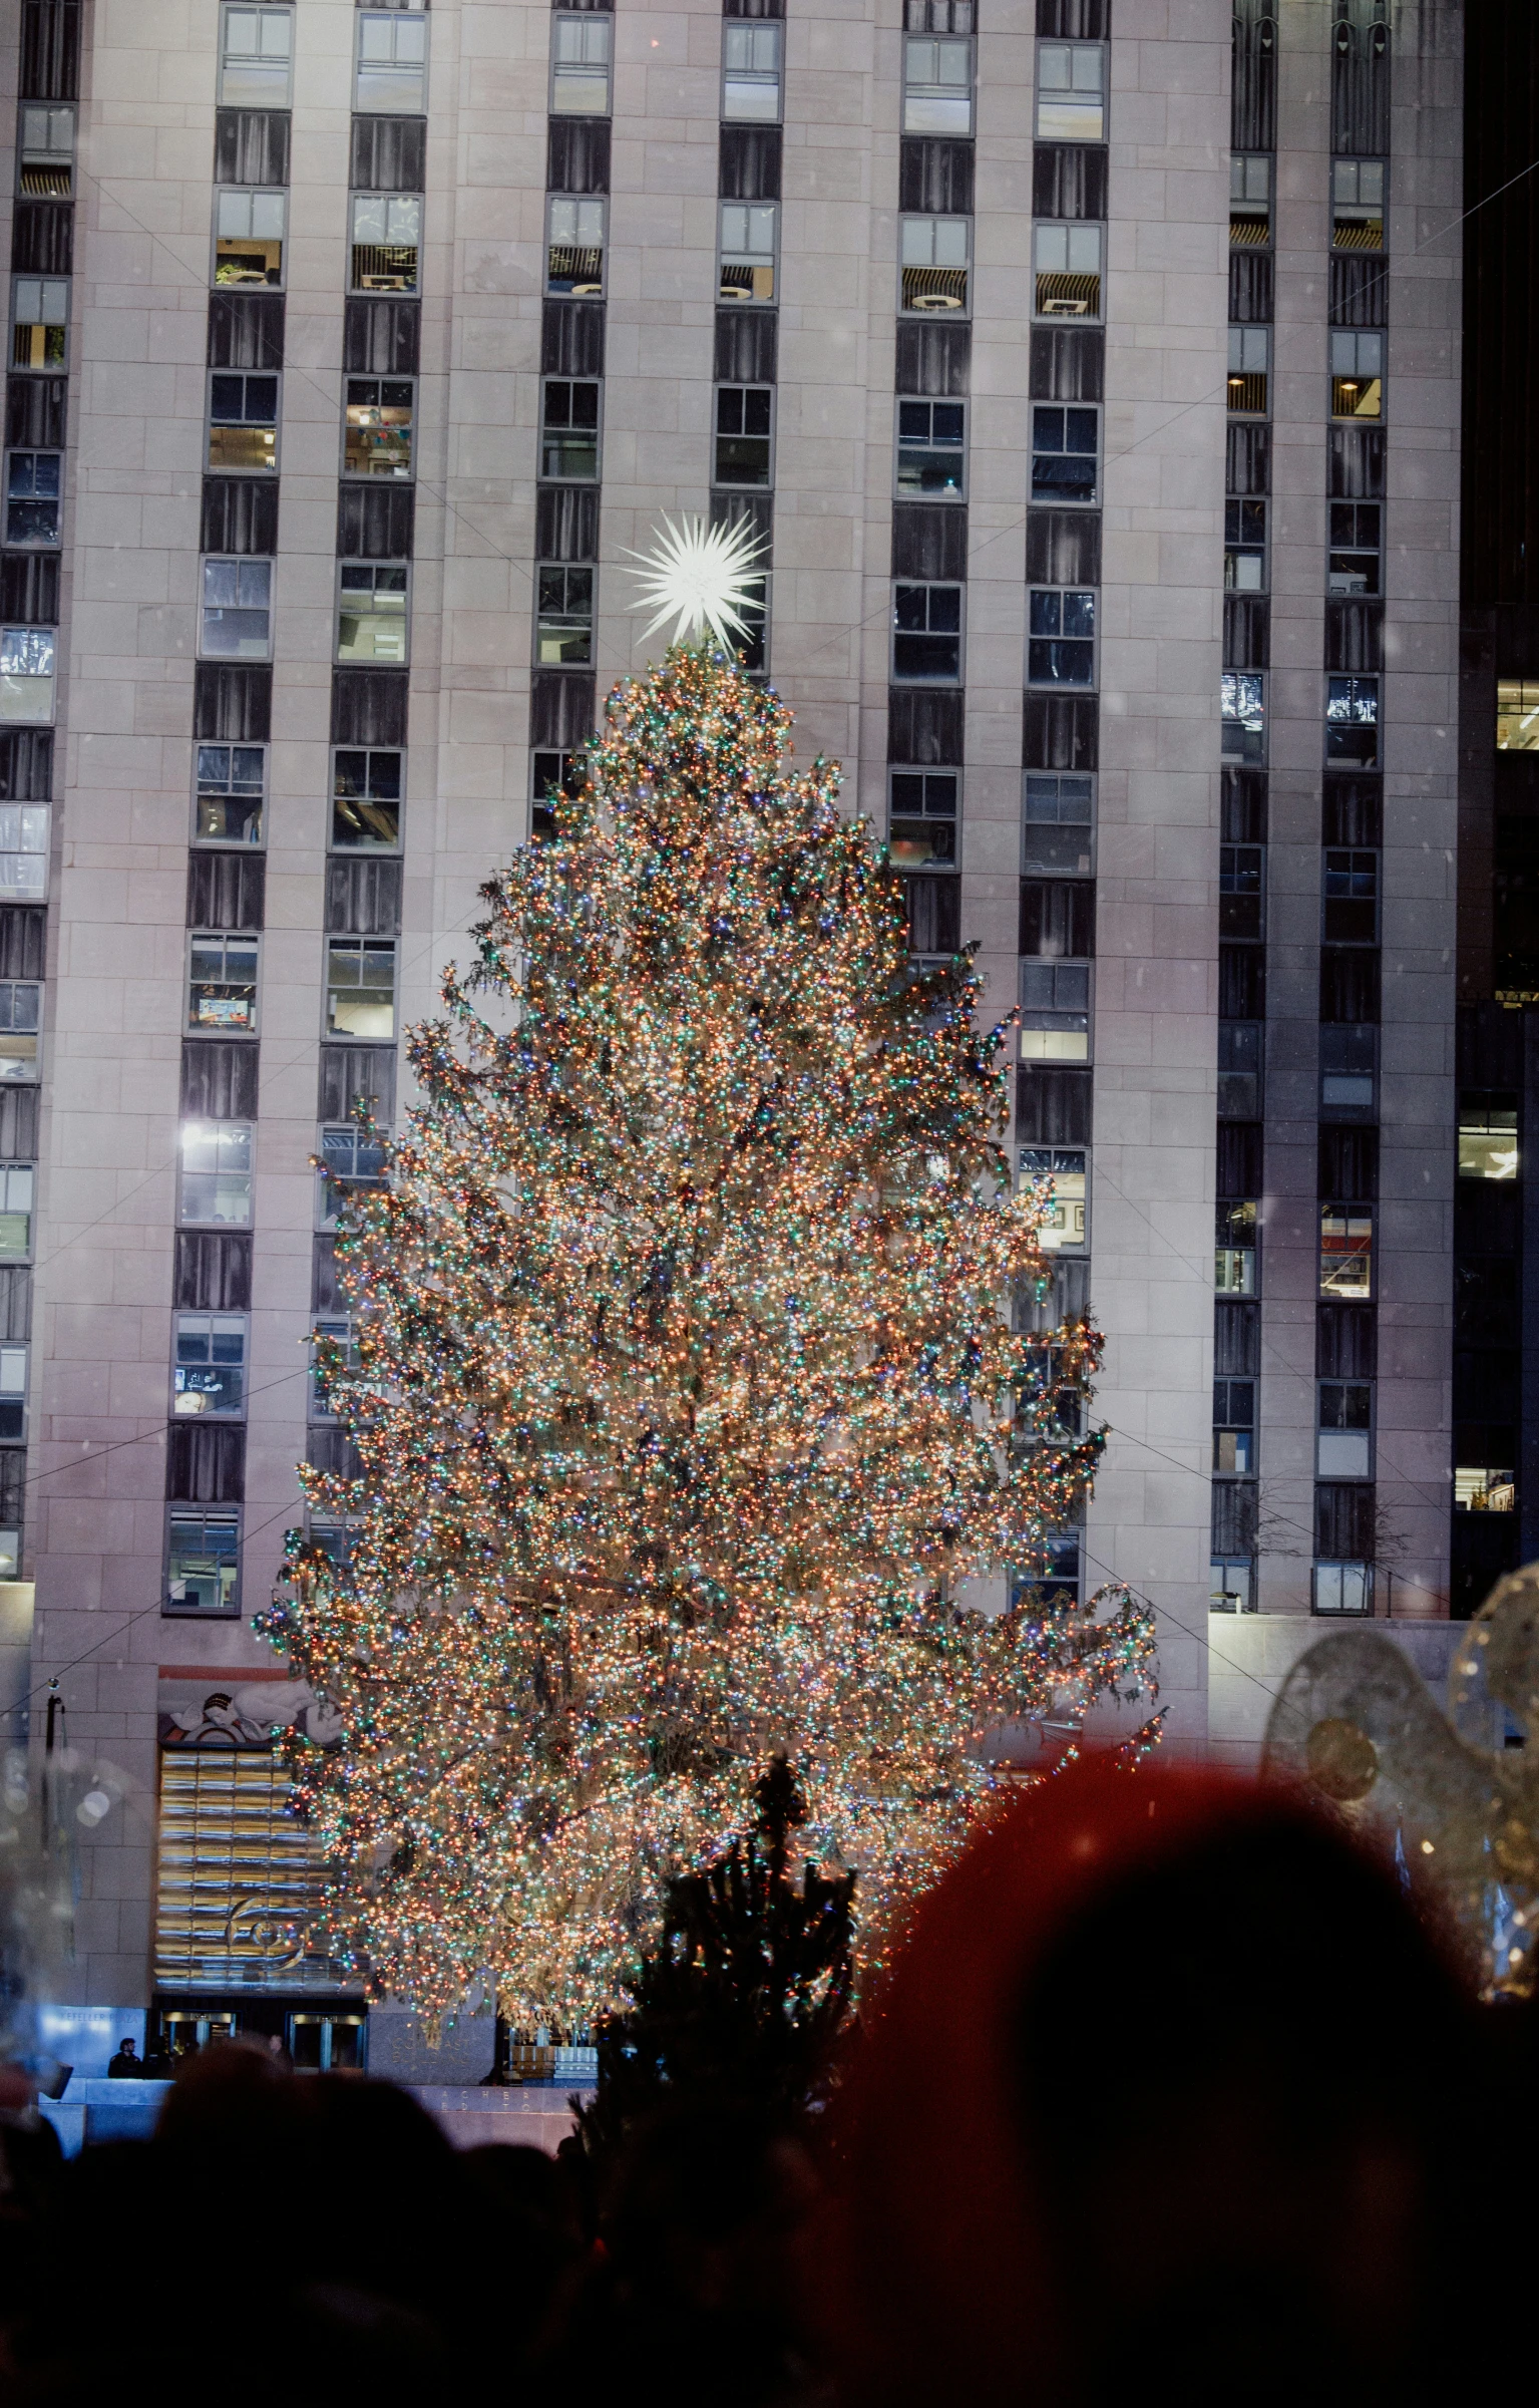
[[[0,2398],[1445,2401],[1525,2295],[1529,2056],[1339,1823],[1074,1767],[920,1907],[812,2114],[701,2073],[602,2153],[455,2150],[222,2042],[65,2162],[0,2073]]]

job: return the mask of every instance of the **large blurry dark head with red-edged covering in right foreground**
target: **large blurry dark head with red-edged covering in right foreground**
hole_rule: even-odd
[[[1077,1767],[922,1907],[843,2105],[850,2408],[1373,2408],[1445,2382],[1457,1977],[1289,1796]]]

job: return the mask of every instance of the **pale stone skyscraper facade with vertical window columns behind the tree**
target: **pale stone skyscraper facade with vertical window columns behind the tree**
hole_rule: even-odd
[[[1209,1604],[1447,1613],[1455,0],[0,22],[0,1546],[125,1777],[79,1999],[356,2049],[246,1618],[349,1459],[354,1105],[665,513],[756,532],[749,667],[1014,1014],[1110,1435],[997,1594],[1144,1592],[1187,1748]]]

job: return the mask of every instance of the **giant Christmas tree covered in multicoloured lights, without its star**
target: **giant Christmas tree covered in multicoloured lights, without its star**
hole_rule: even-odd
[[[1125,1592],[966,1604],[1074,1517],[1098,1341],[1014,1332],[1045,1199],[1002,1033],[788,739],[708,645],[609,696],[340,1235],[361,1479],[306,1486],[352,1546],[299,1546],[265,1628],[344,1727],[296,1753],[328,1946],[429,2015],[614,2003],[776,1753],[874,1946],[987,1801],[983,1734],[1146,1671]]]

